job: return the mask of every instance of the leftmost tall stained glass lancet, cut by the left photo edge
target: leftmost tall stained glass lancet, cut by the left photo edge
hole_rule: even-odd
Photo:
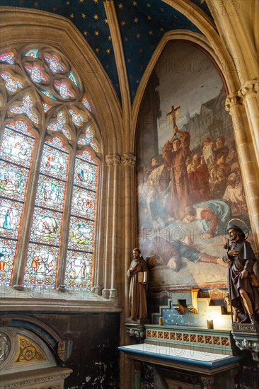
[[[0,149],[0,283],[11,284],[35,139],[28,124],[6,124]]]

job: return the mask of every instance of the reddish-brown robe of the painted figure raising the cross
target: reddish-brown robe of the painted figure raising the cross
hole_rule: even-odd
[[[167,141],[163,146],[163,157],[170,168],[170,197],[166,210],[174,219],[183,218],[185,207],[190,204],[190,185],[186,168],[186,158],[190,154],[190,134],[183,132],[180,137],[181,145],[177,151],[172,151],[173,143]]]

